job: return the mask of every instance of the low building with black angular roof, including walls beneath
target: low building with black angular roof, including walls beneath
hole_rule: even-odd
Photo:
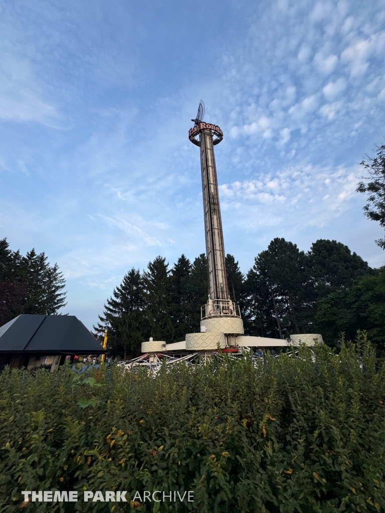
[[[48,367],[51,372],[79,354],[107,351],[74,315],[18,315],[0,327],[0,371]]]

